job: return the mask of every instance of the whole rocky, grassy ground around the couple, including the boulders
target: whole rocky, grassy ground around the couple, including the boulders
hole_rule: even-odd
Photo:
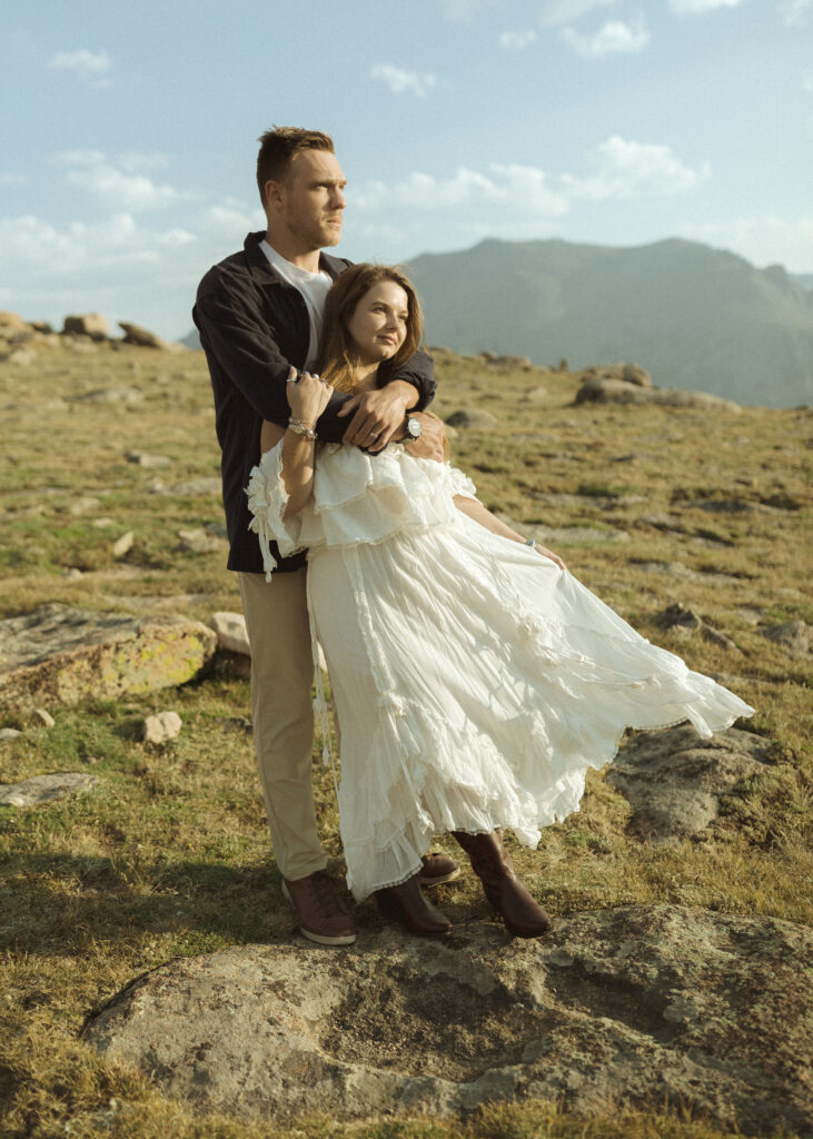
[[[466,874],[447,943],[366,904],[332,953],[269,852],[202,354],[0,326],[2,1134],[813,1132],[808,410],[436,350],[486,505],[757,714],[629,737],[512,846],[549,939]]]

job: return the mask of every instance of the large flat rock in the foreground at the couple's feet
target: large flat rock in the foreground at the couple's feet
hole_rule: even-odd
[[[139,977],[85,1040],[202,1113],[244,1118],[539,1097],[804,1132],[812,951],[802,926],[675,906],[577,913],[543,941],[477,925],[441,942],[249,945]]]

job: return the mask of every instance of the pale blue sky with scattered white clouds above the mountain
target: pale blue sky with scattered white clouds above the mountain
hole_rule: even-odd
[[[0,43],[0,309],[167,337],[328,131],[337,252],[683,237],[813,273],[813,0],[31,0]],[[432,339],[432,328],[428,328]]]

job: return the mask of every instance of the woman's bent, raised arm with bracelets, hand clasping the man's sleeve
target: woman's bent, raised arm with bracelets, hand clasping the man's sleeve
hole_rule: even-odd
[[[296,378],[291,368],[286,383],[286,395],[290,418],[285,431],[276,424],[264,421],[260,434],[262,451],[266,451],[282,440],[282,482],[288,494],[284,518],[293,518],[310,500],[313,493],[313,474],[317,452],[317,419],[327,407],[332,387],[318,376],[302,372]]]

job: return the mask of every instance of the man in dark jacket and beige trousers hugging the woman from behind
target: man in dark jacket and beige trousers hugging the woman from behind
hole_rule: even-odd
[[[268,228],[214,265],[200,281],[192,312],[214,390],[222,450],[223,503],[252,647],[252,711],[257,765],[284,892],[306,937],[344,945],[355,927],[327,874],[311,789],[313,712],[305,556],[280,558],[263,574],[249,532],[244,487],[260,459],[263,419],[288,426],[286,380],[293,366],[312,370],[319,353],[325,296],[348,261],[321,253],[338,244],[345,178],[329,136],[279,128],[262,136],[257,187]],[[435,383],[425,353],[372,392],[335,393],[317,424],[319,439],[375,452],[391,440],[425,458],[443,458],[442,428],[421,413]],[[427,855],[421,880],[457,877],[442,855]]]

